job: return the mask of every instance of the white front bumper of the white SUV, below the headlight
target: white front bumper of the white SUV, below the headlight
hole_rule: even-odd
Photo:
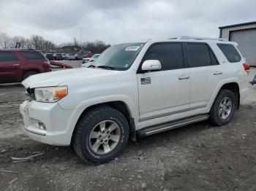
[[[35,141],[56,146],[70,144],[74,129],[69,121],[72,112],[73,109],[62,109],[58,103],[24,101],[20,104],[26,134]]]

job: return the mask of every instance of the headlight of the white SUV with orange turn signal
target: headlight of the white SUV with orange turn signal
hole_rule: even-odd
[[[34,96],[39,102],[56,102],[67,95],[67,86],[37,87]]]

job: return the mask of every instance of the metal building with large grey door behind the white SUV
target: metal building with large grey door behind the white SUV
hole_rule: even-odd
[[[251,66],[256,66],[256,21],[220,26],[219,37],[238,43],[238,48]]]

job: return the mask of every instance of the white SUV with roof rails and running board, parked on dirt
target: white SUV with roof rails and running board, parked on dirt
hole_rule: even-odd
[[[105,163],[129,138],[203,120],[225,125],[248,90],[236,46],[196,37],[118,44],[89,68],[34,75],[23,81],[34,98],[20,105],[24,130]]]

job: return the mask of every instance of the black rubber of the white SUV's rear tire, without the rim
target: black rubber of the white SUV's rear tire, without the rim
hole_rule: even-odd
[[[228,114],[226,119],[222,119],[222,117],[219,114],[220,104],[222,100],[225,98],[229,98],[232,102],[232,108],[230,114]],[[211,106],[211,112],[210,112],[210,118],[209,121],[212,125],[226,125],[228,122],[230,122],[231,118],[233,117],[233,114],[235,112],[235,109],[237,108],[236,104],[238,101],[236,100],[236,95],[231,90],[222,89],[219,91],[217,97],[214,100],[214,104]]]

